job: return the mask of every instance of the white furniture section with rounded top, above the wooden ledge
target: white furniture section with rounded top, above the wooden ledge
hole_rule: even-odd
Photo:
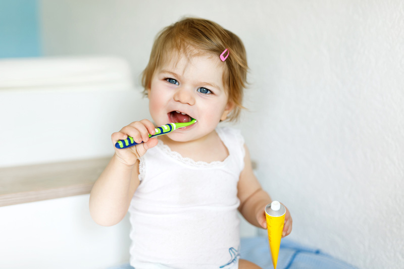
[[[0,167],[112,156],[147,105],[120,58],[2,59],[0,74]]]

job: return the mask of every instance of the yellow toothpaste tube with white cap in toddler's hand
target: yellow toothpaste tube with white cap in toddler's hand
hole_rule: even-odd
[[[265,206],[265,215],[267,217],[267,229],[269,248],[272,255],[272,264],[276,269],[276,263],[278,262],[279,247],[281,245],[283,224],[285,223],[286,208],[278,201],[272,201],[272,203]]]

